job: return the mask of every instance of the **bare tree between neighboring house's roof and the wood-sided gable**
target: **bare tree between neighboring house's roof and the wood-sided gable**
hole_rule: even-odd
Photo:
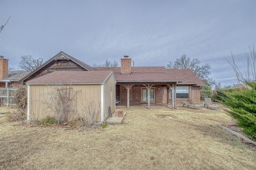
[[[19,69],[23,71],[33,71],[43,64],[43,58],[34,59],[32,55],[21,55]]]

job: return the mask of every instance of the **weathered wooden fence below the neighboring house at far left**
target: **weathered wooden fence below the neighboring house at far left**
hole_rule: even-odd
[[[1,99],[1,106],[7,105],[15,105],[14,99],[14,91],[17,90],[16,88],[0,88],[0,99]]]

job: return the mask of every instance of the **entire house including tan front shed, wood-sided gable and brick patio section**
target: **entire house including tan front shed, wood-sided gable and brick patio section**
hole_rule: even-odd
[[[28,85],[28,119],[32,111],[38,118],[42,116],[43,108],[40,109],[38,103],[40,91],[47,91],[48,85],[56,84],[86,89],[82,92],[82,97],[88,97],[84,104],[100,101],[98,121],[108,117],[109,106],[115,111],[115,98],[127,108],[133,103],[147,103],[148,109],[151,103],[172,103],[175,108],[176,103],[184,100],[200,102],[200,87],[204,83],[190,69],[132,67],[131,61],[124,56],[121,67],[90,67],[61,51],[18,82]]]

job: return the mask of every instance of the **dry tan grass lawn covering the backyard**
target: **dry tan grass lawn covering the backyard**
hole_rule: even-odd
[[[0,117],[0,169],[254,169],[256,151],[222,130],[222,110],[124,110],[90,131],[15,126]]]

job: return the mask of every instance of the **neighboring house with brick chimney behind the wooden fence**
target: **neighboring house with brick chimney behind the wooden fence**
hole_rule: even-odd
[[[8,59],[0,56],[0,87],[17,87],[17,82],[26,76],[28,71],[8,71]]]

